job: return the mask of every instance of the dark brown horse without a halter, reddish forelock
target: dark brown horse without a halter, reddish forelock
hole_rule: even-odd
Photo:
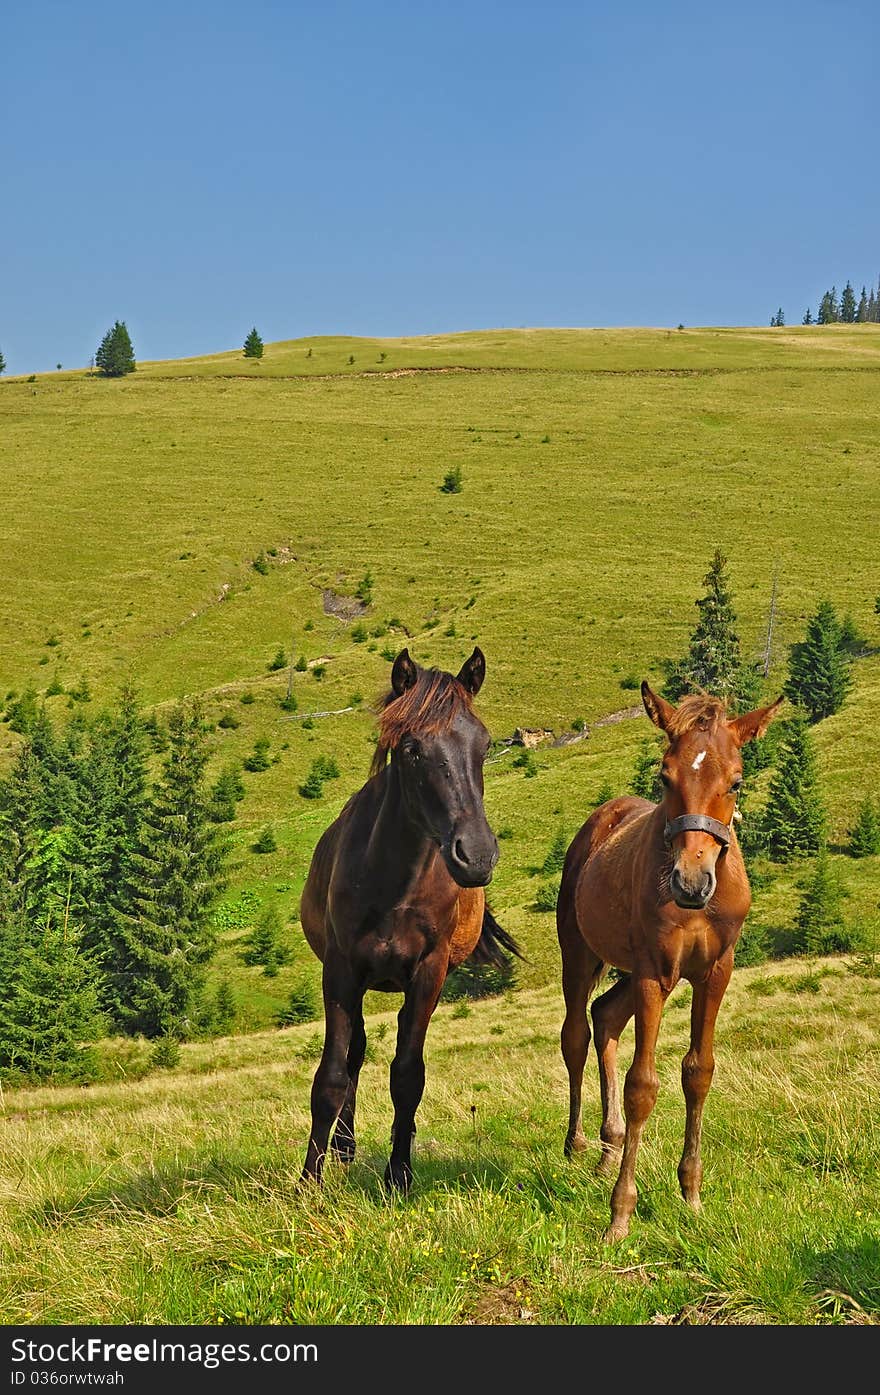
[[[324,1055],[311,1092],[303,1179],[321,1180],[328,1144],[354,1156],[367,989],[402,992],[389,1187],[407,1190],[424,1041],[450,968],[519,954],[494,921],[484,886],[498,843],[483,808],[490,734],[473,710],[485,677],[474,649],[456,678],[395,660],[371,777],[321,837],[303,889],[305,939],[324,963]],[[331,1133],[333,1138],[331,1143]]]

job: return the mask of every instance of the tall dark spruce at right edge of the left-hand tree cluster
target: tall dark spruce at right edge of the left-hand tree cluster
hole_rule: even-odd
[[[126,963],[113,979],[116,1016],[146,1036],[185,1036],[195,1027],[215,947],[211,908],[226,886],[229,854],[204,794],[208,751],[197,703],[174,709],[169,744],[132,858]]]

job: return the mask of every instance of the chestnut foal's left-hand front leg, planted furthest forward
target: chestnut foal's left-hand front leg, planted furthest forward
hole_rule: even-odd
[[[660,1034],[660,1018],[668,993],[660,986],[655,978],[632,978],[633,1010],[636,1017],[636,1050],[632,1066],[626,1071],[623,1083],[623,1113],[626,1115],[626,1134],[623,1138],[623,1156],[621,1172],[611,1193],[611,1225],[605,1230],[605,1240],[622,1240],[629,1233],[629,1222],[639,1193],[636,1191],[636,1158],[642,1130],[647,1117],[657,1103],[655,1052],[657,1036]]]

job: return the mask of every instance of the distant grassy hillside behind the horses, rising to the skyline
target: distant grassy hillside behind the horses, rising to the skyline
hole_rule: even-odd
[[[647,720],[598,723],[686,644],[713,548],[731,559],[750,656],[778,569],[768,693],[823,596],[876,644],[879,406],[873,325],[293,340],[262,360],[141,364],[121,381],[4,381],[1,689],[85,677],[92,707],[124,677],[159,709],[201,693],[212,721],[240,721],[216,728],[215,770],[268,737],[275,763],[244,777],[230,900],[255,890],[287,915],[321,829],[364,778],[389,658],[407,643],[457,668],[478,642],[496,738],[559,735],[577,718],[590,731],[540,748],[534,780],[501,751],[488,767],[508,834],[495,910],[529,950],[522,981],[555,982],[534,872],[605,781],[625,787]],[[463,491],[443,494],[453,465]],[[297,713],[279,706],[287,671],[269,671],[279,647],[307,664]],[[66,693],[47,702],[68,716]],[[307,724],[311,711],[333,716]],[[833,840],[877,788],[879,718],[874,656],[817,728]],[[0,731],[8,759],[20,738]],[[311,802],[298,785],[319,752],[342,773]],[[261,857],[266,823],[279,851]],[[876,912],[873,862],[841,859],[860,917]],[[781,923],[795,896],[795,875],[777,877],[754,915]],[[218,972],[232,974],[241,1025],[268,1025],[312,968],[300,956],[269,981],[241,965],[234,933]]]

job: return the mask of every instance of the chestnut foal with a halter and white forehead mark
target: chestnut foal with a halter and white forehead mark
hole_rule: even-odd
[[[566,1156],[587,1148],[580,1123],[587,1002],[608,965],[623,974],[591,1009],[602,1099],[597,1170],[609,1176],[619,1159],[607,1240],[628,1235],[636,1209],[636,1155],[658,1088],[660,1018],[681,978],[693,985],[693,1002],[690,1048],[682,1062],[686,1123],[678,1177],[685,1201],[700,1208],[700,1130],[715,1064],[715,1018],[752,903],[734,831],[739,748],[763,735],[782,702],[728,717],[718,698],[693,695],[674,707],[646,682],[642,699],[669,742],[662,802],[622,795],[600,805],[568,850],[556,903],[570,1098]],[[636,1048],[623,1085],[625,1123],[616,1057],[630,1017]]]

